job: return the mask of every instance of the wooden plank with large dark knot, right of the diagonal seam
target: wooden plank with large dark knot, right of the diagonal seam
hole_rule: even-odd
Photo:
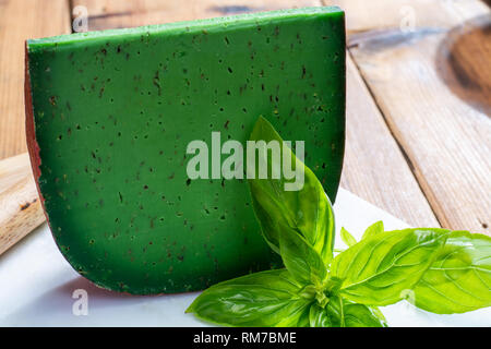
[[[350,51],[439,221],[490,233],[489,8],[477,0],[423,1],[407,32],[387,10],[357,12],[357,0],[336,2],[363,23],[351,27]]]

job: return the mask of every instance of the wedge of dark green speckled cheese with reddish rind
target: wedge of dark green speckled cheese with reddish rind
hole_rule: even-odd
[[[27,41],[27,139],[55,240],[81,275],[135,294],[279,266],[247,180],[187,174],[191,141],[246,143],[260,116],[306,142],[334,201],[345,25],[307,8]],[[224,157],[223,159],[224,160]]]

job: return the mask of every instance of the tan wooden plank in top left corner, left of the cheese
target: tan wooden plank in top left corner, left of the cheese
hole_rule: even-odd
[[[24,40],[70,33],[68,0],[0,1],[0,159],[26,152]]]

